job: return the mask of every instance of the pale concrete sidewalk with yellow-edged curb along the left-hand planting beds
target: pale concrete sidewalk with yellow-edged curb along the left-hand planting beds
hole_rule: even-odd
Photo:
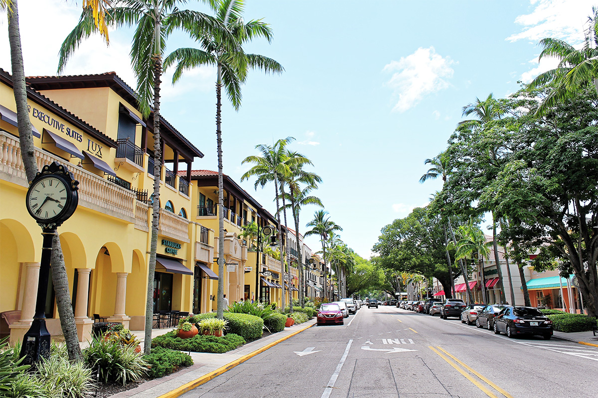
[[[144,382],[136,388],[114,394],[112,398],[175,398],[187,391],[212,380],[218,375],[234,368],[249,358],[266,351],[268,348],[285,341],[294,335],[311,328],[316,324],[316,319],[309,320],[301,325],[294,325],[268,337],[251,341],[242,347],[224,354],[194,353],[191,352],[193,365],[175,372],[172,375]],[[154,329],[152,338],[162,335],[172,329]],[[143,331],[134,331],[138,338],[142,338]]]

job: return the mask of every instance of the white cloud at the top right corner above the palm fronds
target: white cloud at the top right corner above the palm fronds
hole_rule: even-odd
[[[537,42],[548,37],[563,39],[570,44],[582,41],[594,0],[530,0],[530,3],[535,6],[533,11],[515,18],[516,23],[524,26],[523,30],[509,36],[508,41],[527,39]]]

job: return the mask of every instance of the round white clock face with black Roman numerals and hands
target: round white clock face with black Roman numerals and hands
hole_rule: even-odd
[[[51,220],[65,211],[68,190],[63,180],[48,176],[33,184],[28,192],[27,206],[38,220]]]

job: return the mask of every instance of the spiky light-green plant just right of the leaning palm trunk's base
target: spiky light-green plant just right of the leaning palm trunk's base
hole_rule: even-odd
[[[94,338],[83,359],[94,372],[99,371],[103,382],[127,382],[141,380],[147,371],[147,363],[135,352],[135,345],[118,344],[103,338]]]

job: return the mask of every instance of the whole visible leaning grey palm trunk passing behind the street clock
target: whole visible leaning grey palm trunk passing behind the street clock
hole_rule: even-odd
[[[25,84],[25,68],[19,29],[19,7],[17,0],[8,7],[8,40],[10,42],[10,60],[13,72],[13,93],[17,105],[17,124],[19,125],[19,144],[21,158],[25,167],[27,181],[32,181],[38,172],[35,159],[35,146],[31,132],[31,121],[27,107],[27,88]],[[65,259],[62,255],[60,239],[56,235],[52,241],[52,279],[56,293],[56,306],[60,316],[60,326],[65,336],[66,349],[71,362],[81,360],[81,347],[77,335],[77,325],[72,312],[69,283],[66,277]]]

